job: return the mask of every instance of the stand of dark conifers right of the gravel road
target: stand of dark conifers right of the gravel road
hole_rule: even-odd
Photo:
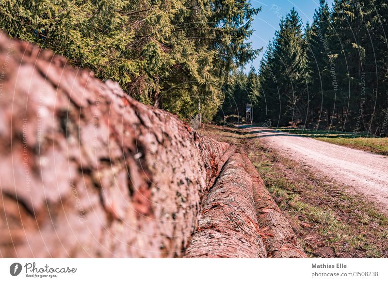
[[[383,0],[320,0],[304,31],[292,9],[259,66],[257,120],[387,135],[387,25]]]

